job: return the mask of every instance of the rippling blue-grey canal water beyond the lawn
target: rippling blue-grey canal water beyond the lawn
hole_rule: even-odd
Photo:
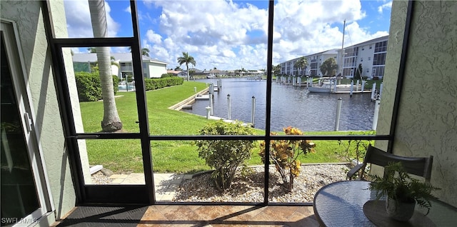
[[[217,85],[217,79],[200,79]],[[227,95],[231,97],[231,119],[251,123],[252,97],[255,97],[254,127],[265,129],[266,81],[221,79],[222,87],[214,92],[213,116],[228,118]],[[375,103],[367,94],[309,93],[306,87],[278,84],[271,86],[271,131],[282,131],[293,126],[301,131],[333,131],[338,98],[341,105],[340,131],[371,130]],[[183,110],[206,116],[209,100],[197,100],[192,109]]]

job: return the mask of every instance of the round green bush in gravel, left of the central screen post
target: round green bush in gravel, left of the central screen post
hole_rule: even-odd
[[[240,122],[226,123],[222,120],[209,123],[200,130],[201,135],[253,135],[253,129]],[[238,166],[251,156],[252,140],[196,141],[199,157],[214,168],[211,178],[219,191],[230,188]]]

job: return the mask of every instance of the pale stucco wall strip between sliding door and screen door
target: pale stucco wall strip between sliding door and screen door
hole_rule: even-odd
[[[61,12],[64,13],[63,5]],[[56,12],[59,14],[59,12]],[[51,71],[51,54],[44,31],[40,1],[1,1],[1,18],[17,25],[26,70],[26,83],[31,92],[34,123],[44,164],[49,177],[51,195],[59,218],[75,205],[69,160],[59,115],[56,89]],[[58,31],[66,26],[58,25]]]

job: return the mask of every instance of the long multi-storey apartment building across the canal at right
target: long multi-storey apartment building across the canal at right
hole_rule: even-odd
[[[338,66],[338,74],[346,78],[353,78],[356,75],[358,65],[362,65],[361,76],[368,79],[382,79],[384,76],[384,66],[386,64],[388,36],[371,39],[353,46],[346,46],[344,58],[341,58],[341,49],[331,49],[305,56],[308,66],[304,72],[298,72],[293,65],[300,59],[292,59],[281,63],[281,74],[288,76],[323,76],[320,67],[323,61],[328,58],[335,58]]]

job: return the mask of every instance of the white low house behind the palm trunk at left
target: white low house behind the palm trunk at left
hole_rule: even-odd
[[[111,53],[114,58],[112,61],[119,64],[120,69],[117,66],[111,66],[113,75],[119,77],[119,79],[125,78],[126,75],[133,76],[134,69],[131,63],[131,53]],[[148,56],[142,56],[143,58],[143,76],[145,78],[160,78],[162,74],[166,74],[166,62],[151,59]],[[96,53],[88,54],[74,54],[73,64],[75,71],[80,69],[81,71],[89,71],[89,64],[94,64],[97,61]],[[83,67],[81,67],[81,64]]]

